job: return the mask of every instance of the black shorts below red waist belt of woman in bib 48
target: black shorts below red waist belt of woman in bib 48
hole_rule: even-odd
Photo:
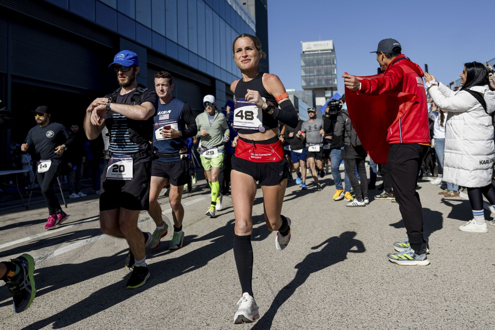
[[[261,186],[277,186],[289,176],[289,162],[285,158],[279,162],[256,163],[234,155],[232,169],[250,175]]]

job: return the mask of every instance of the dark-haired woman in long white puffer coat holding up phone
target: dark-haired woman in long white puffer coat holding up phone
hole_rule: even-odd
[[[459,226],[463,232],[487,233],[483,195],[495,204],[492,185],[495,157],[495,92],[488,70],[478,62],[466,63],[460,74],[462,89],[451,91],[426,73],[425,81],[433,101],[448,111],[445,130],[444,180],[467,188],[473,219]]]

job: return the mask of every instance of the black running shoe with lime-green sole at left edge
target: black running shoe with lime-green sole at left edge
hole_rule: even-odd
[[[36,295],[34,284],[34,260],[27,253],[11,259],[11,262],[20,267],[19,274],[12,278],[6,278],[5,286],[12,293],[14,312],[20,313],[25,311],[33,302]]]

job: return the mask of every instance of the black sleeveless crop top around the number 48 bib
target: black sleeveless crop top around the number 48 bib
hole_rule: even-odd
[[[253,90],[253,91],[258,91],[261,97],[264,97],[266,99],[266,102],[268,101],[273,103],[273,106],[278,107],[278,102],[275,100],[275,97],[268,93],[263,86],[263,72],[259,72],[253,79],[249,81],[243,81],[242,79],[239,80],[236,86],[236,90],[234,91],[234,98],[244,98],[247,94],[247,90]],[[263,120],[261,122],[262,126],[265,128],[265,130],[271,130],[273,128],[278,127],[278,120],[273,118],[271,115],[268,113],[263,113]],[[252,134],[256,133],[254,130],[248,130],[248,129],[238,129],[238,133],[241,134]]]

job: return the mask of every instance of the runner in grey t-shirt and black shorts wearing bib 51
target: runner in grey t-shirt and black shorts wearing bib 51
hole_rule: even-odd
[[[320,176],[325,176],[323,170],[323,136],[325,130],[323,129],[323,120],[316,118],[316,109],[308,109],[309,119],[302,123],[301,132],[302,137],[306,139],[306,159],[311,169],[311,175],[316,183],[316,191],[321,190],[321,186],[318,183],[318,172],[316,167],[320,171]],[[315,162],[316,159],[316,162]]]

